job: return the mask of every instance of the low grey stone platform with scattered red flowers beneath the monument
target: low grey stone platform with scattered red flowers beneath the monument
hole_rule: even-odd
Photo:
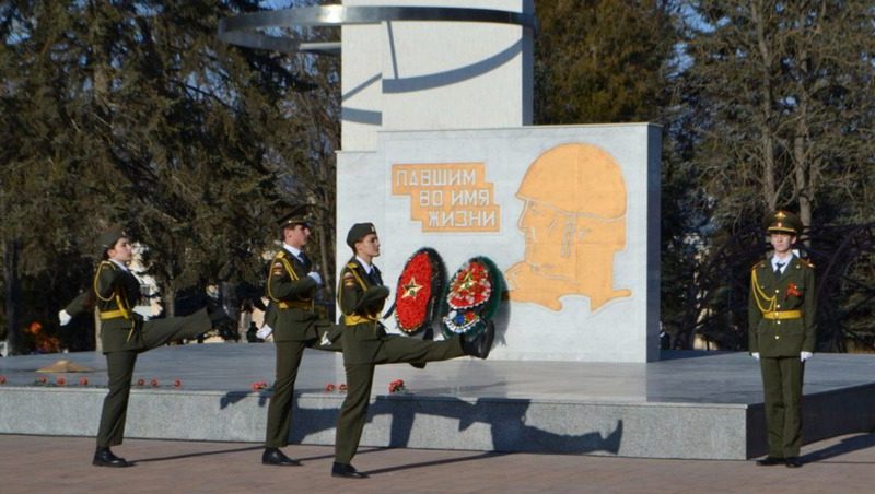
[[[663,357],[650,364],[458,358],[422,370],[378,366],[362,446],[737,460],[766,454],[756,361],[745,353]],[[36,373],[60,358],[94,372]],[[270,391],[253,384],[272,383],[273,365],[269,343],[144,353],[133,377],[143,385],[131,392],[125,435],[261,443]],[[102,354],[0,358],[0,433],[96,435],[107,380]],[[82,377],[88,385],[79,384]],[[388,392],[395,379],[405,381],[406,392]],[[334,444],[345,395],[326,388],[345,380],[339,354],[306,351],[292,443]],[[806,363],[804,391],[806,443],[875,428],[875,355],[815,355]]]

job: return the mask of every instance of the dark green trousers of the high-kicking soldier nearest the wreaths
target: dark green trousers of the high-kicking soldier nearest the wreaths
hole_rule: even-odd
[[[349,341],[345,340],[345,344]],[[389,336],[381,343],[373,363],[343,365],[347,372],[348,391],[337,419],[335,461],[338,463],[349,464],[359,448],[368,417],[368,404],[376,365],[446,361],[465,355],[459,337],[443,341],[427,341]]]

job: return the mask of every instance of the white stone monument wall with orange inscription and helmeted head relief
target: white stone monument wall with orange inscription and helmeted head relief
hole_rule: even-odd
[[[421,247],[451,275],[495,262],[490,358],[657,360],[660,144],[646,124],[380,133],[338,155],[338,268],[349,226],[373,222],[393,290]]]

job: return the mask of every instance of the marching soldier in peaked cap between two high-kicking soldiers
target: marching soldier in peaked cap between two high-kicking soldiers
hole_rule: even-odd
[[[292,396],[298,367],[304,348],[339,351],[339,345],[319,342],[331,327],[327,319],[316,315],[314,298],[322,286],[322,277],[313,270],[313,263],[303,248],[311,235],[305,210],[299,208],[279,222],[282,248],[270,262],[267,280],[267,296],[270,298],[265,325],[273,331],[277,349],[277,370],[273,395],[267,409],[267,431],[264,464],[296,467],[301,462],[289,458],[280,448],[289,444],[292,422]]]

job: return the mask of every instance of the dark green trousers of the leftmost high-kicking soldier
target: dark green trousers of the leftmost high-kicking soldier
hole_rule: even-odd
[[[120,445],[125,436],[125,419],[128,413],[130,381],[137,355],[147,350],[162,346],[174,340],[194,338],[211,327],[206,310],[187,317],[171,317],[143,322],[142,346],[137,350],[109,351],[106,353],[106,369],[109,374],[109,393],[103,400],[101,425],[97,430],[97,446]],[[113,329],[113,331],[120,331]]]

